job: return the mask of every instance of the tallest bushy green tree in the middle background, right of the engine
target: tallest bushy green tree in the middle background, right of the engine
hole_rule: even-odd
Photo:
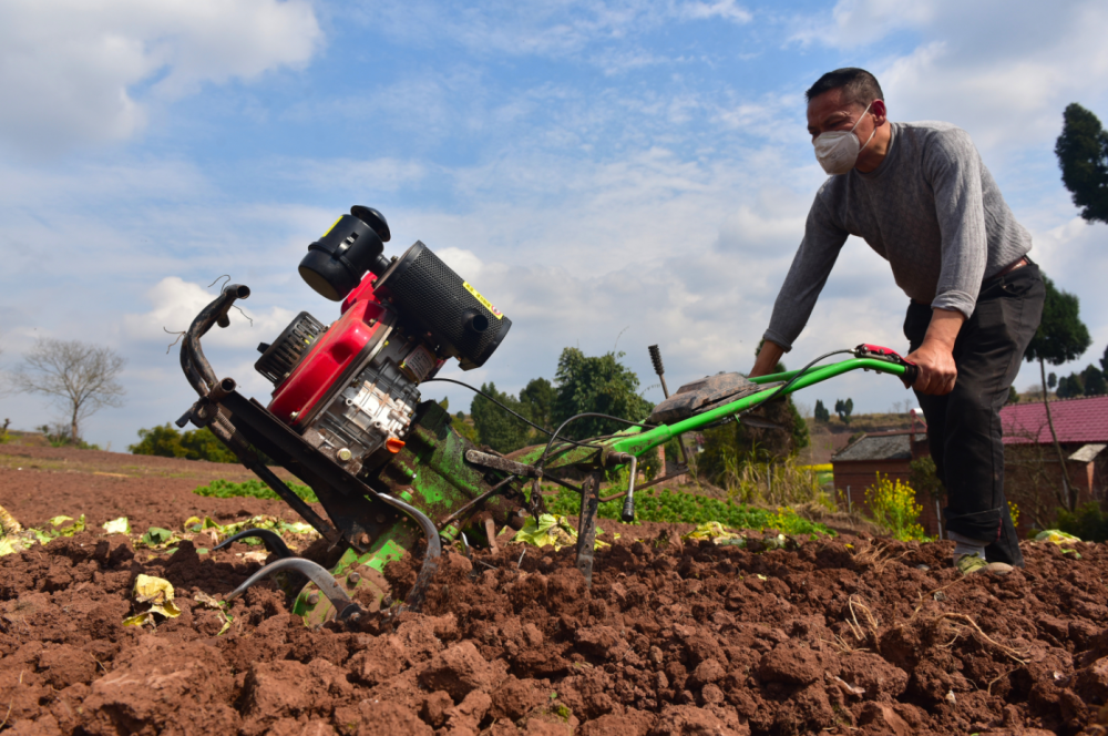
[[[654,405],[638,395],[638,376],[623,365],[623,352],[589,357],[578,348],[565,348],[554,380],[552,425],[557,427],[578,413],[595,411],[622,419],[643,420]],[[627,425],[583,417],[563,430],[571,439],[613,435]]]

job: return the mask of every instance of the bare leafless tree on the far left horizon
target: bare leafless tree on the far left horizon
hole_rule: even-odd
[[[104,407],[123,406],[126,391],[116,378],[125,365],[109,347],[40,338],[11,380],[16,390],[41,393],[65,411],[70,437],[80,442],[80,422]]]

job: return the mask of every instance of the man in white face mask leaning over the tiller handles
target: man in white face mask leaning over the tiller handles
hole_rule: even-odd
[[[946,529],[963,573],[1023,565],[1004,497],[999,409],[1043,311],[1045,289],[970,135],[938,122],[891,123],[881,86],[840,69],[808,90],[808,131],[830,178],[777,297],[751,375],[770,372],[804,328],[849,235],[889,260],[911,298],[906,358],[927,420]]]

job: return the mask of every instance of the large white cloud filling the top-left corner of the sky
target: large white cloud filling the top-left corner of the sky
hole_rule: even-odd
[[[43,154],[125,140],[147,119],[136,86],[172,99],[252,79],[306,63],[320,40],[307,0],[8,0],[0,142]]]

